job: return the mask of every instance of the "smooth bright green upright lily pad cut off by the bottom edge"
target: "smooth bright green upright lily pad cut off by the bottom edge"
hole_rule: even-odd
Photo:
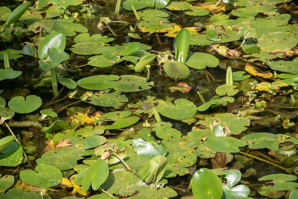
[[[194,174],[192,192],[196,199],[221,199],[222,181],[213,171],[202,168]]]

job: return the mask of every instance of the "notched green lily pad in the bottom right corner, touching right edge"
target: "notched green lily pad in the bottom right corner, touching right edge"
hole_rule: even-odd
[[[286,191],[286,190],[293,190],[298,188],[298,183],[289,182],[289,181],[296,181],[297,177],[293,175],[287,174],[271,174],[267,176],[263,176],[262,178],[258,179],[259,181],[270,181],[274,183],[274,185],[264,186],[267,190],[274,190],[274,191]]]

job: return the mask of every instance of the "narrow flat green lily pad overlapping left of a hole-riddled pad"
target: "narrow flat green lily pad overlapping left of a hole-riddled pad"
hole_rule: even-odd
[[[76,84],[88,90],[114,89],[122,85],[117,75],[96,75],[80,79]]]

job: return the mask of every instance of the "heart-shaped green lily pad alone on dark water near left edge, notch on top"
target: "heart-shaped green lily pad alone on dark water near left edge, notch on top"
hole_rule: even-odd
[[[42,104],[42,100],[38,96],[17,96],[8,101],[8,107],[17,113],[29,113],[38,109]]]

